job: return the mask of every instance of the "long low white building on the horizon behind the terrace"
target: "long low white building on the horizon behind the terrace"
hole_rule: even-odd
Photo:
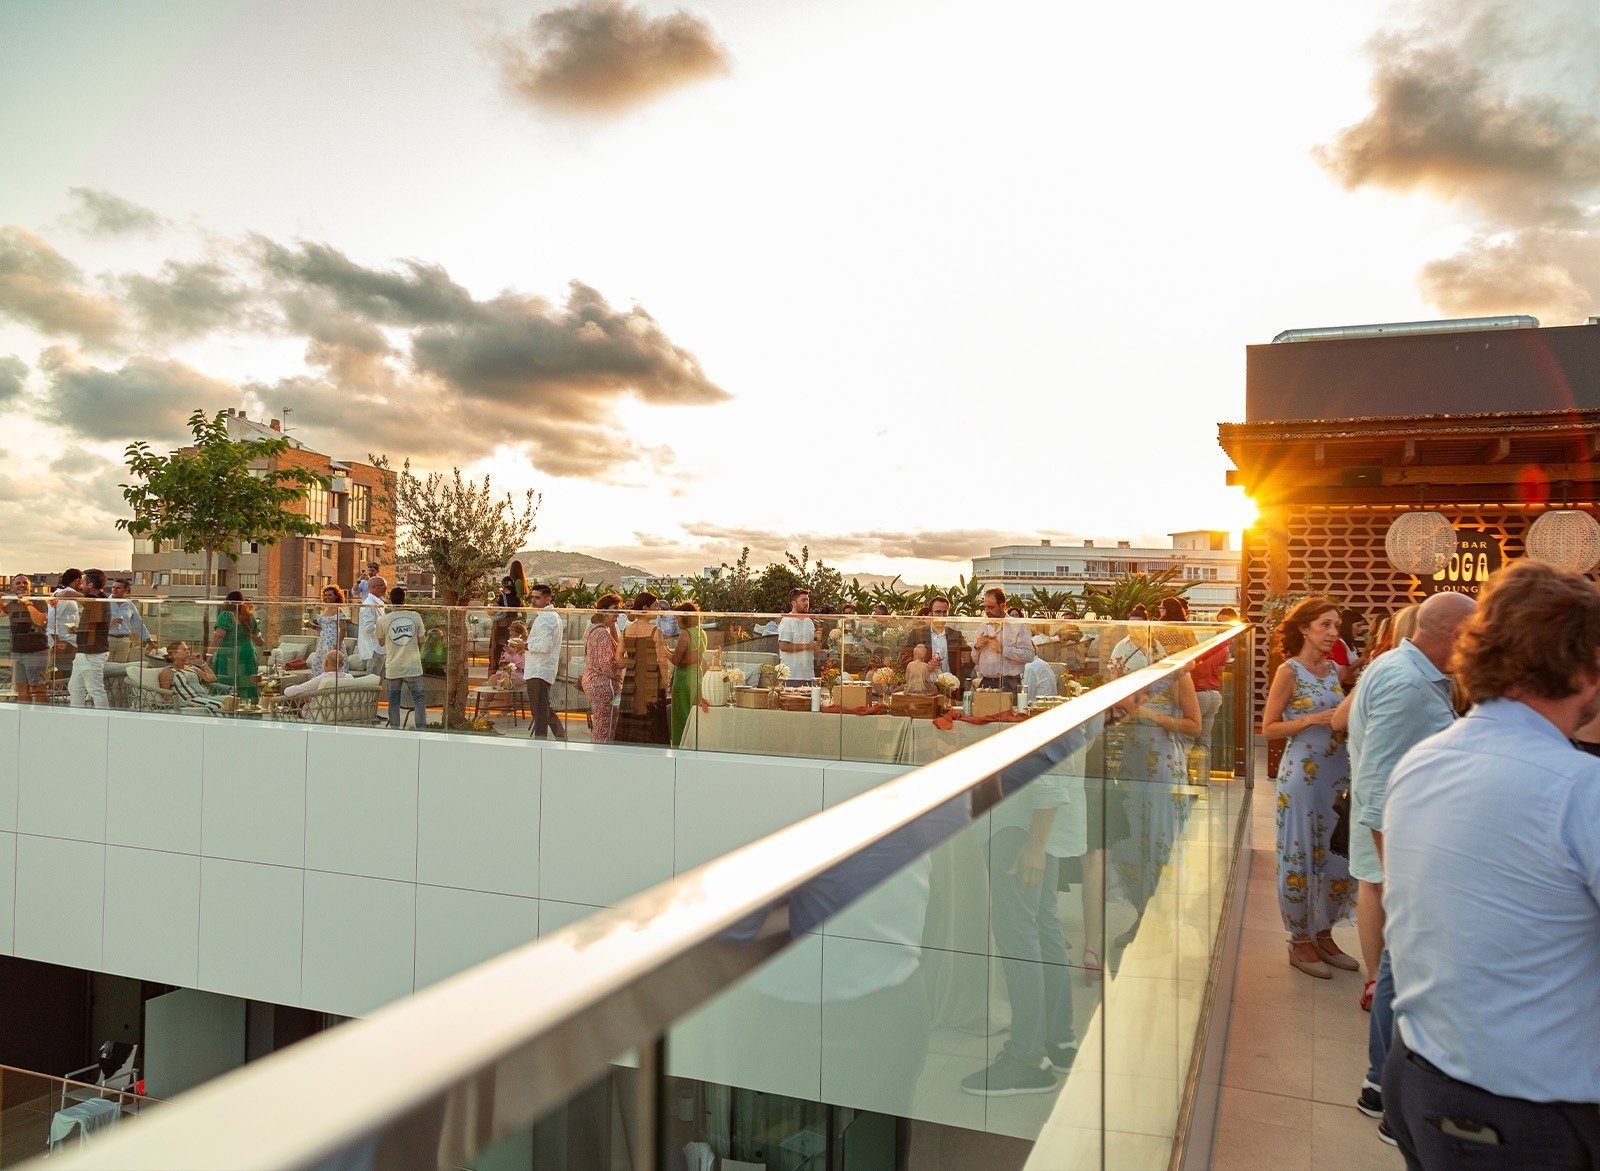
[[[1034,589],[1082,593],[1090,586],[1109,586],[1126,573],[1182,570],[1194,582],[1186,595],[1195,616],[1214,614],[1222,606],[1238,606],[1240,552],[1232,534],[1216,530],[1170,533],[1171,549],[1136,549],[1131,541],[1082,546],[998,546],[989,557],[973,558],[973,578],[987,589],[1000,586],[1008,595],[1024,598]]]

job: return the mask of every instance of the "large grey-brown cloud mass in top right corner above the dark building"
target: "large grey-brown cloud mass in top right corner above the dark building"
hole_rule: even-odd
[[[1472,238],[1418,275],[1448,314],[1582,320],[1600,294],[1600,18],[1584,0],[1413,5],[1368,115],[1314,154],[1347,189],[1422,190]]]

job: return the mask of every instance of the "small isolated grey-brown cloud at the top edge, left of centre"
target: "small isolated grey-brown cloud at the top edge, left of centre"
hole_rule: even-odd
[[[622,114],[730,69],[704,19],[682,10],[651,18],[626,0],[578,0],[539,13],[493,51],[509,94],[576,114]]]

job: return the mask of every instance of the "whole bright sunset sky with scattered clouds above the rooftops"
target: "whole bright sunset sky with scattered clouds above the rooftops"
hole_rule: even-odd
[[[195,408],[531,547],[949,582],[1238,530],[1280,330],[1600,312],[1600,11],[8,0],[0,570]]]

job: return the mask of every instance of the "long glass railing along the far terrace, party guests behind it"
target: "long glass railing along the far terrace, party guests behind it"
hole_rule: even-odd
[[[133,600],[110,603],[102,630],[93,603],[46,601],[6,600],[0,699],[894,765],[938,760],[1222,629]],[[29,646],[46,649],[13,649],[34,616],[50,629]],[[1206,731],[1226,726],[1227,664],[1195,681]],[[1195,747],[1197,773],[1232,769],[1214,736]]]

